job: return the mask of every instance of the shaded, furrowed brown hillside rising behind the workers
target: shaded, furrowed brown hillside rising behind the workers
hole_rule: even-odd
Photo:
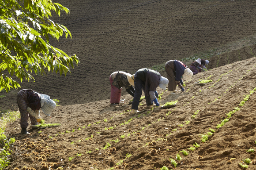
[[[67,26],[72,39],[61,37],[51,43],[69,55],[77,54],[81,64],[66,77],[47,73],[35,76],[35,83],[23,80],[21,89],[49,94],[61,105],[109,99],[109,76],[118,70],[133,74],[205,51],[200,57],[207,59],[222,48],[209,58],[209,69],[238,61],[239,56],[242,60],[256,55],[255,0],[54,2],[70,9],[69,15],[63,12],[51,19]],[[19,90],[0,93],[6,95],[0,99],[0,110],[14,109]]]

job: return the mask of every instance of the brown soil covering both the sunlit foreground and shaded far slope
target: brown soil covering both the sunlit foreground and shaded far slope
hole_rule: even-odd
[[[46,123],[61,123],[61,126],[40,130],[28,128],[31,135],[26,136],[19,134],[19,120],[10,123],[6,134],[18,141],[6,170],[22,169],[23,166],[42,169],[42,161],[36,160],[37,156],[24,154],[38,152],[42,155],[45,148],[39,151],[36,147],[25,147],[29,141],[44,147],[47,143],[54,153],[43,162],[58,163],[64,170],[71,169],[72,164],[81,170],[109,170],[117,165],[124,169],[125,164],[125,169],[129,170],[155,170],[162,166],[177,170],[240,170],[238,163],[242,159],[255,159],[254,153],[246,151],[256,148],[256,93],[250,95],[244,106],[239,103],[255,88],[256,1],[58,2],[68,7],[71,14],[53,19],[67,25],[72,40],[61,38],[53,45],[68,54],[77,54],[81,64],[66,77],[51,73],[36,76],[35,83],[21,83],[22,89],[31,88],[60,100],[60,106],[50,117],[42,117]],[[253,41],[247,40],[248,37]],[[229,44],[234,45],[230,47]],[[152,109],[154,106],[146,106],[143,100],[140,112],[132,114],[129,112],[132,97],[126,92],[122,96],[124,104],[109,105],[109,75],[112,72],[134,73],[170,59],[224,47],[229,47],[226,53],[209,58],[207,68],[211,70],[185,82],[184,93],[169,96],[157,89],[159,94],[163,92],[161,104],[178,100],[174,108]],[[166,72],[160,73],[166,76]],[[213,81],[204,86],[193,84],[207,78]],[[17,108],[15,98],[19,90],[0,93],[6,95],[0,99],[1,110]],[[217,129],[217,124],[226,119],[226,113],[234,107],[240,110]],[[197,110],[196,118],[192,119]],[[131,121],[128,123],[128,120]],[[190,122],[186,124],[186,121]],[[207,134],[209,128],[216,131],[202,142],[201,136]],[[125,135],[124,139],[121,135]],[[117,139],[117,143],[113,141]],[[148,145],[152,141],[156,141],[156,145]],[[109,148],[103,149],[107,143],[116,151],[109,154]],[[195,143],[200,147],[194,151],[188,149]],[[151,148],[157,152],[153,154]],[[189,152],[188,156],[182,155],[183,149]],[[183,158],[181,161],[176,159],[178,153]],[[69,161],[69,157],[73,159]],[[179,166],[174,168],[169,158]],[[252,163],[248,167],[256,169]]]

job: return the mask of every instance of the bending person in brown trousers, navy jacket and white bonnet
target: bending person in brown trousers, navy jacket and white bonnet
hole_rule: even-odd
[[[191,77],[193,76],[193,72],[188,69],[188,66],[182,63],[181,61],[177,60],[170,60],[166,62],[165,65],[166,73],[167,73],[167,79],[169,80],[168,83],[168,93],[169,95],[175,94],[178,91],[176,90],[176,87],[181,88],[181,91],[184,91],[183,88],[183,80],[191,80]]]

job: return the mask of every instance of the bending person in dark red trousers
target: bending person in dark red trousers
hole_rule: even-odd
[[[111,96],[110,96],[110,105],[117,105],[120,102],[121,98],[121,92],[122,92],[122,87],[126,89],[128,94],[131,94],[132,97],[134,96],[134,88],[132,85],[129,83],[127,79],[127,74],[126,72],[113,72],[110,77],[109,81],[111,84]],[[131,75],[131,74],[129,74]],[[124,99],[123,99],[124,101]]]

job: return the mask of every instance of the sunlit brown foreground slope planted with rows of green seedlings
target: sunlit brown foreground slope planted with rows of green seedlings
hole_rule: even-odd
[[[45,154],[46,145],[53,152],[47,153],[43,162],[49,166],[58,163],[64,170],[71,169],[72,165],[79,170],[109,170],[116,166],[121,169],[126,166],[128,170],[159,170],[162,166],[176,170],[240,170],[242,159],[255,159],[253,152],[247,152],[256,148],[255,63],[256,58],[250,58],[199,73],[191,82],[185,82],[185,92],[172,96],[158,87],[161,104],[178,100],[170,109],[146,106],[143,100],[140,112],[132,114],[128,104],[132,97],[124,95],[124,104],[118,106],[110,106],[109,99],[57,106],[50,117],[43,119],[61,126],[29,130],[30,136],[19,134],[17,120],[6,132],[18,141],[11,155],[13,160],[5,170],[23,166],[41,170],[42,161],[36,160],[33,153],[38,152],[38,157]],[[195,85],[198,80],[212,82]],[[243,106],[241,101],[245,101]],[[226,115],[229,112],[232,112],[230,117]],[[208,133],[210,128],[215,130],[212,135]],[[206,137],[207,133],[208,139],[202,142],[202,136]],[[42,134],[47,136],[41,137]],[[148,145],[152,141],[156,143]],[[42,147],[28,148],[30,142]],[[199,148],[188,149],[196,143]],[[109,148],[113,147],[116,151],[109,154]],[[24,156],[23,148],[32,154]],[[152,148],[157,152],[152,153]],[[182,150],[188,152],[188,156],[184,156]],[[176,159],[178,153],[182,157],[180,161]],[[179,166],[175,168],[170,158]],[[256,169],[256,165],[250,163],[248,168]]]

